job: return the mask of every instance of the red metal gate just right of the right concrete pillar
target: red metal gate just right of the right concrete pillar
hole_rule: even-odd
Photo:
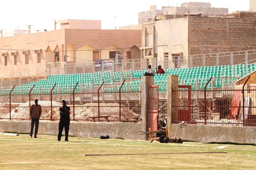
[[[179,85],[182,90],[179,93],[178,121],[191,121],[191,86]],[[188,89],[188,90],[187,90]]]

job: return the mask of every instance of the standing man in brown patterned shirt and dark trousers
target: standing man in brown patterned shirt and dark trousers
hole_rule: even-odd
[[[31,105],[29,108],[29,115],[31,117],[31,128],[30,128],[30,138],[33,136],[33,129],[34,125],[36,124],[36,129],[35,129],[35,136],[34,138],[38,138],[37,131],[38,131],[38,125],[39,125],[39,118],[42,113],[42,107],[41,105],[38,104],[38,100],[35,99],[35,104]]]

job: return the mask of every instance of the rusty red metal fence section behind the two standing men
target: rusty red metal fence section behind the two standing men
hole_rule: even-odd
[[[56,84],[48,92],[36,94],[35,85],[28,94],[13,94],[0,96],[0,119],[29,120],[29,107],[38,99],[42,106],[40,120],[59,120],[61,101],[66,100],[70,109],[70,119],[79,122],[141,122],[141,92],[118,91],[105,92],[104,82],[100,87],[85,86],[68,88],[67,93],[61,93]]]

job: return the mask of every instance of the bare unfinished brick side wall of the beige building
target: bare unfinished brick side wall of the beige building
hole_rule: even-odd
[[[188,53],[253,50],[256,45],[255,23],[255,18],[189,17]]]

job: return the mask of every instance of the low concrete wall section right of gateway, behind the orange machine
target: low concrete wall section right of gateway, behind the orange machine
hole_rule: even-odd
[[[168,130],[169,138],[174,137],[178,124],[172,124]],[[184,129],[178,129],[177,138]],[[196,142],[233,142],[240,144],[256,144],[256,127],[213,126],[188,124],[183,135],[184,140]]]

